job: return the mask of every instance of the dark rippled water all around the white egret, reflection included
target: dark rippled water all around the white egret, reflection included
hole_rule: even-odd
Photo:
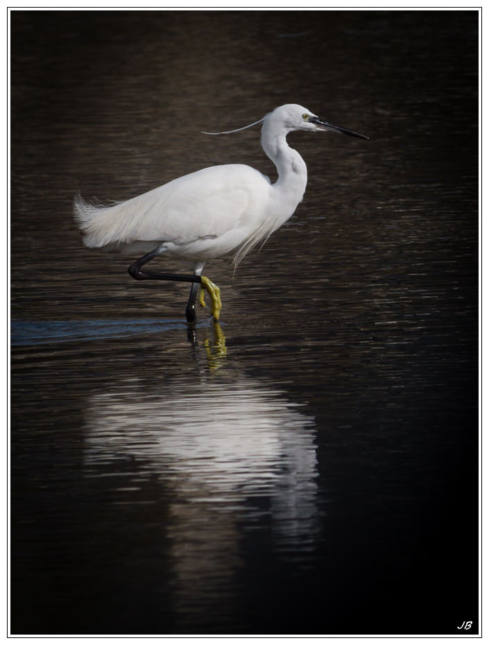
[[[12,633],[477,633],[477,12],[11,17]],[[220,326],[81,245],[283,103],[371,139],[289,136]]]

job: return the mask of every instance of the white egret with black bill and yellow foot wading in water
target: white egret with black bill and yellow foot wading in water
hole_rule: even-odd
[[[85,244],[90,247],[116,245],[127,254],[149,251],[130,266],[130,275],[135,279],[193,282],[187,305],[189,322],[196,320],[194,305],[200,283],[200,304],[205,304],[203,288],[207,289],[217,320],[221,310],[219,290],[200,275],[205,262],[234,250],[236,266],[255,244],[266,240],[291,217],[304,195],[306,164],[296,150],[289,148],[286,135],[292,130],[332,130],[368,139],[358,132],[321,121],[300,105],[277,107],[257,123],[261,121],[261,145],[277,166],[275,184],[250,166],[230,164],[185,175],[108,207],[91,205],[78,196],[74,203],[75,217],[85,233]],[[146,262],[160,253],[191,261],[194,275],[141,271]]]

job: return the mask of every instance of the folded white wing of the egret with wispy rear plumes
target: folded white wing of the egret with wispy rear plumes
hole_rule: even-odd
[[[91,247],[145,240],[187,244],[252,225],[264,212],[267,180],[250,166],[212,166],[108,207],[78,197],[75,218]]]

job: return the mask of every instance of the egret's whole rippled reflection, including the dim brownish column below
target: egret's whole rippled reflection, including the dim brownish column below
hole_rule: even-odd
[[[85,465],[130,458],[169,497],[174,608],[190,625],[239,614],[245,533],[271,522],[275,550],[304,562],[314,544],[314,420],[264,383],[216,377],[158,393],[128,379],[87,411]]]

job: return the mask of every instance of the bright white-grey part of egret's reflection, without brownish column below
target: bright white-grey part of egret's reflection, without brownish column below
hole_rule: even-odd
[[[164,473],[185,503],[215,497],[233,506],[271,496],[279,532],[291,531],[282,526],[285,519],[302,522],[302,535],[310,531],[314,419],[259,381],[179,384],[155,395],[132,379],[94,396],[85,463],[110,463],[127,454]]]

